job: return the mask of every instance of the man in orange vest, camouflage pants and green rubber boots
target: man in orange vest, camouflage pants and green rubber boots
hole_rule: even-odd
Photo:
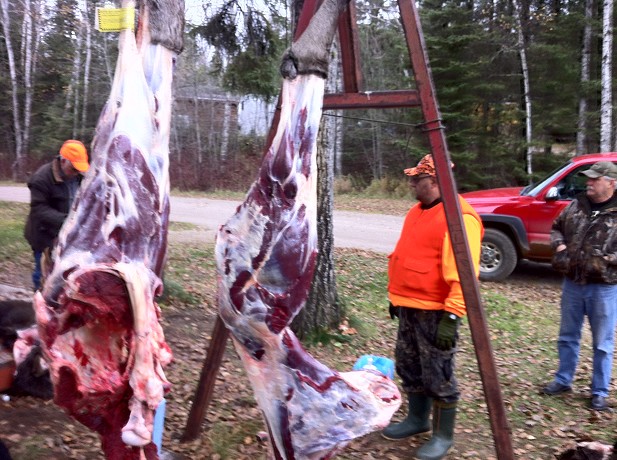
[[[432,409],[432,437],[418,449],[416,458],[441,459],[453,444],[459,399],[454,356],[466,307],[433,157],[426,155],[405,174],[411,176],[418,203],[407,213],[398,243],[388,256],[388,298],[392,318],[399,317],[396,371],[409,398],[409,412],[382,434],[403,439],[430,431]],[[478,276],[482,221],[460,196],[459,202]]]

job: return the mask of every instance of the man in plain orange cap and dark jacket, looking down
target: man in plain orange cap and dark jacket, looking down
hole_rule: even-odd
[[[41,287],[41,266],[51,261],[55,239],[77,194],[82,173],[89,167],[84,144],[69,139],[60,147],[59,155],[41,166],[28,181],[30,213],[24,236],[34,252],[32,282],[35,290]]]

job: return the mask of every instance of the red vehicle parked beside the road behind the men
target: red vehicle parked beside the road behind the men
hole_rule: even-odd
[[[597,161],[617,164],[617,152],[574,157],[538,184],[464,193],[482,217],[480,279],[500,281],[512,273],[520,259],[549,262],[553,221],[577,193],[584,192],[587,177],[579,172]]]

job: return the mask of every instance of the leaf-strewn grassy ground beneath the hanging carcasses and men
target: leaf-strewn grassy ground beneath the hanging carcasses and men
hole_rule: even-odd
[[[0,282],[28,278],[30,255],[22,238],[26,212],[26,205],[0,203]],[[392,357],[396,322],[390,320],[386,309],[386,258],[366,251],[337,250],[336,263],[340,301],[352,329],[346,335],[338,331],[327,336],[328,340],[309,341],[308,351],[341,371],[349,370],[362,354]],[[596,413],[587,408],[591,373],[587,330],[575,391],[557,398],[539,394],[541,386],[550,381],[557,362],[559,282],[550,269],[530,265],[518,269],[507,282],[480,286],[517,459],[554,458],[575,439],[590,437],[612,443],[616,438],[614,413]],[[212,247],[172,243],[165,283],[163,326],[176,359],[168,371],[173,390],[168,398],[164,446],[191,459],[263,458],[265,446],[254,436],[263,429],[259,412],[231,348],[219,372],[202,435],[192,443],[179,442],[216,312]],[[461,402],[456,445],[448,458],[494,459],[487,405],[467,322],[461,332],[457,358]],[[614,390],[613,385],[612,395]],[[70,419],[62,419],[61,412],[54,412],[53,407],[29,398],[0,402],[0,437],[8,439],[14,457],[100,458],[96,456],[96,437]],[[23,422],[27,427],[24,429],[19,414],[27,413],[26,409],[31,412],[28,421]],[[58,426],[57,421],[63,425]],[[354,441],[338,458],[410,458],[411,451],[424,439],[387,442],[375,433]],[[39,452],[41,443],[48,446],[44,453]]]

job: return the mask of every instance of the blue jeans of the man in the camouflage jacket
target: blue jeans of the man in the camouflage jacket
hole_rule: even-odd
[[[578,363],[581,331],[585,315],[589,318],[593,339],[593,376],[591,393],[608,397],[613,367],[615,319],[617,318],[617,285],[576,284],[563,282],[561,294],[561,326],[557,348],[559,370],[555,381],[571,385]]]

